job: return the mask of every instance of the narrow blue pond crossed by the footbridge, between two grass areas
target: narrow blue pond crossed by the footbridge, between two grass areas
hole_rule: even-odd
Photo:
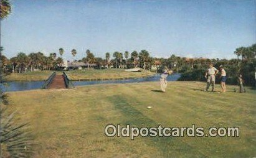
[[[181,75],[179,73],[174,73],[169,75],[168,81],[176,81]],[[134,83],[143,81],[159,81],[160,74],[150,77],[143,78],[132,78],[126,80],[93,80],[93,81],[72,81],[75,86],[82,85],[97,85],[97,84],[108,84],[108,83]],[[0,85],[2,91],[24,91],[24,90],[34,90],[42,88],[44,81],[8,81],[5,85]]]

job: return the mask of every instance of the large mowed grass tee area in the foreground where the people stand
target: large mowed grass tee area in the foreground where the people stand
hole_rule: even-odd
[[[158,82],[9,93],[9,110],[30,122],[35,157],[255,157],[256,93],[202,91],[205,83]],[[217,85],[219,86],[219,85]],[[220,88],[219,88],[220,90]],[[152,106],[152,109],[147,109]],[[107,137],[107,124],[240,128],[239,137]]]

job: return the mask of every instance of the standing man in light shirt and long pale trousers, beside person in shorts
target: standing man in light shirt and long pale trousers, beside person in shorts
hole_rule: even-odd
[[[212,63],[209,65],[209,69],[206,72],[206,78],[207,78],[207,86],[206,86],[206,91],[209,90],[211,84],[212,84],[212,91],[215,91],[215,77],[216,74],[218,73],[217,68],[215,68]]]

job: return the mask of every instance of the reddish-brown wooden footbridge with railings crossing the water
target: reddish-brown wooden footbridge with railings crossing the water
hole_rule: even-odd
[[[44,89],[65,89],[75,88],[72,81],[70,81],[67,74],[64,72],[62,75],[57,75],[56,72],[52,73],[42,86]]]

